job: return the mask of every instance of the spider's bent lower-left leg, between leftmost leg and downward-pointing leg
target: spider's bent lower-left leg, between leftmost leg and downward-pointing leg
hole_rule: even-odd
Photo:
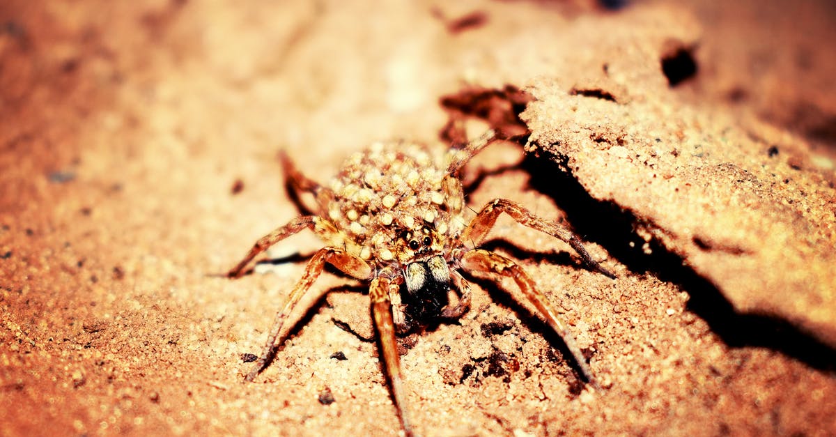
[[[322,273],[325,263],[334,265],[334,267],[342,270],[345,274],[354,276],[360,280],[369,279],[372,275],[370,265],[343,249],[334,247],[319,249],[311,257],[311,260],[308,261],[302,278],[293,287],[293,291],[291,291],[290,297],[288,298],[288,303],[284,305],[282,311],[276,313],[276,317],[273,319],[273,326],[270,327],[270,333],[268,334],[267,342],[264,343],[261,356],[258,357],[256,364],[252,366],[250,373],[247,373],[247,381],[255,379],[258,373],[267,365],[270,355],[273,353],[273,347],[275,347],[278,334],[282,331],[284,320],[288,318],[290,312],[293,311],[293,307],[296,306],[298,301],[308,291],[311,284],[314,283],[314,280]]]

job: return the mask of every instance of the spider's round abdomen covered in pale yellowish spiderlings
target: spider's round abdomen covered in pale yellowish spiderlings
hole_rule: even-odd
[[[424,145],[375,144],[344,163],[329,185],[332,195],[320,200],[320,217],[341,231],[345,247],[358,248],[360,258],[405,264],[417,253],[402,244],[404,234],[431,229],[438,243],[433,249],[444,247],[451,229],[449,203],[463,203],[451,199],[461,197],[461,190],[451,195],[447,177],[444,158]]]

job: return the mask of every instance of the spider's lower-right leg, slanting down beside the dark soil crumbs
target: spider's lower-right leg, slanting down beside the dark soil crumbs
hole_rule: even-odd
[[[563,339],[563,343],[566,344],[575,362],[578,363],[581,372],[584,373],[584,378],[595,388],[598,388],[598,383],[595,381],[592,369],[589,368],[589,364],[584,360],[584,354],[580,352],[580,348],[574,341],[572,333],[569,332],[566,322],[563,321],[562,317],[558,316],[558,313],[553,310],[552,306],[548,305],[546,296],[543,296],[543,293],[537,290],[534,286],[534,281],[526,274],[522,267],[501,254],[485,249],[472,249],[464,252],[461,254],[459,263],[470,273],[484,272],[512,278],[523,292],[523,296],[546,319],[548,326],[551,326],[553,331]]]

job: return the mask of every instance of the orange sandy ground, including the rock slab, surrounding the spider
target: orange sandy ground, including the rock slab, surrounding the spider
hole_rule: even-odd
[[[512,284],[401,340],[425,435],[836,434],[831,2],[0,6],[0,434],[397,434],[362,284],[325,275],[242,383],[321,243],[228,280],[372,141],[451,119],[516,142],[468,203],[570,225],[618,277],[500,219],[603,389]],[[527,153],[528,152],[528,153]],[[327,295],[326,291],[330,291]]]

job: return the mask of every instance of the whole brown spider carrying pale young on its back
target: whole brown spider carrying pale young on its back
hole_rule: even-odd
[[[464,314],[471,302],[471,284],[459,270],[512,278],[522,297],[563,339],[584,378],[597,386],[566,323],[535,288],[533,280],[512,260],[479,246],[497,217],[507,213],[519,224],[567,242],[590,268],[611,278],[614,275],[593,260],[576,234],[539,218],[519,203],[497,198],[487,203],[470,224],[463,218],[461,167],[496,139],[492,131],[487,131],[465,147],[451,148],[441,156],[413,142],[375,143],[350,157],[328,186],[304,177],[282,154],[288,186],[297,197],[312,193],[318,214],[299,216],[258,239],[227,276],[241,276],[258,254],[303,229],[313,230],[327,245],[308,261],[302,279],[276,314],[261,356],[246,380],[252,381],[267,366],[285,319],[328,263],[346,275],[369,282],[375,329],[406,435],[413,431],[395,334]],[[457,299],[451,299],[454,296]]]

